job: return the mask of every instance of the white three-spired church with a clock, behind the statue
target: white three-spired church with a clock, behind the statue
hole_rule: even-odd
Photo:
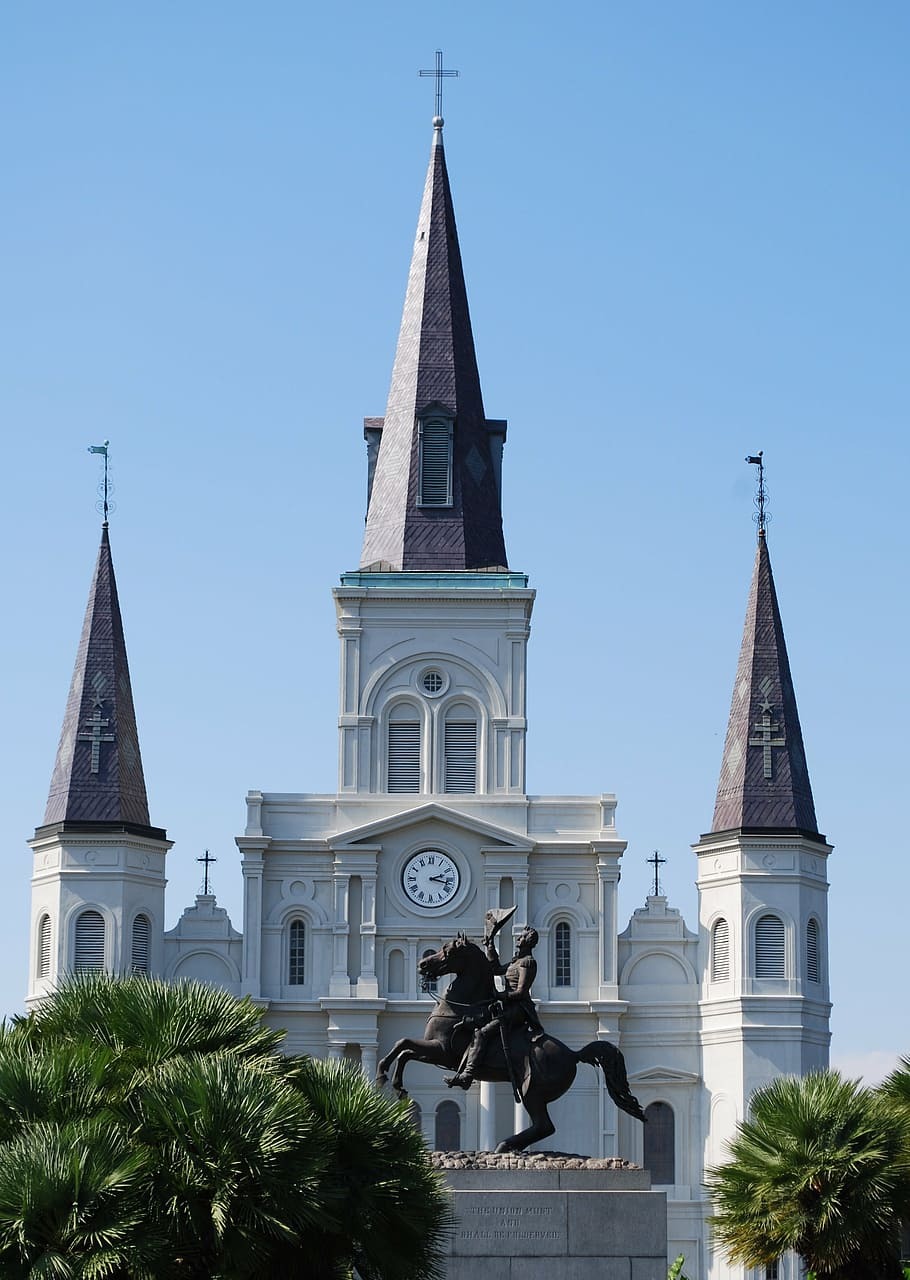
[[[440,119],[388,406],[365,438],[362,558],[334,588],[338,790],[247,796],[242,929],[207,893],[165,929],[170,842],[148,814],[105,525],[31,842],[28,1001],[74,969],[201,978],[261,1002],[289,1051],[372,1074],[398,1037],[422,1032],[421,956],[458,931],[479,938],[489,908],[515,904],[516,932],[540,934],[547,1029],[576,1048],[617,1043],[650,1121],[617,1112],[581,1068],[553,1107],[554,1142],[644,1162],[667,1192],[671,1257],[686,1254],[691,1280],[744,1277],[712,1251],[704,1170],[758,1087],[827,1065],[831,1009],[831,846],[767,540],[760,530],[714,817],[694,846],[699,919],[690,928],[657,893],[619,920],[616,797],[526,791],[535,593],[506,554],[506,422],[481,399]],[[453,874],[415,884],[408,868],[427,852]],[[506,1084],[463,1093],[417,1064],[406,1083],[431,1146],[490,1148],[526,1123]],[[785,1258],[767,1275],[796,1270]]]

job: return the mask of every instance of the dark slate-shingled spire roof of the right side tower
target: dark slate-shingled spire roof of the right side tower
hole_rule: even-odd
[[[815,840],[796,694],[764,530],[746,607],[712,832],[801,832]]]

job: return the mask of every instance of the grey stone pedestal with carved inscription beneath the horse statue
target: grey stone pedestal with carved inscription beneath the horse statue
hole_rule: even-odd
[[[666,1280],[667,1197],[645,1170],[548,1152],[434,1162],[456,1211],[445,1280]]]

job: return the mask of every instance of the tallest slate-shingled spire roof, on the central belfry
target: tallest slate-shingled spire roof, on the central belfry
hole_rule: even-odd
[[[498,467],[506,424],[488,422],[484,415],[443,122],[436,116],[433,123],[385,419],[365,424],[367,440],[380,430],[381,440],[370,485],[363,570],[507,567]],[[420,504],[420,419],[427,410],[453,422],[447,504]]]

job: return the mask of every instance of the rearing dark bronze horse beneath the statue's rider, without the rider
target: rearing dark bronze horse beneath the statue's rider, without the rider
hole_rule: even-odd
[[[456,1071],[474,1037],[474,1029],[490,1016],[490,1005],[500,997],[493,980],[493,966],[476,943],[458,934],[452,942],[420,961],[424,982],[434,982],[445,973],[454,974],[426,1023],[422,1039],[404,1038],[393,1044],[379,1062],[376,1083],[388,1083],[392,1062],[395,1069],[392,1088],[406,1098],[403,1076],[408,1062],[429,1062],[443,1070]],[[572,1050],[554,1036],[535,1036],[521,1028],[512,1032],[512,1069],[500,1044],[490,1044],[477,1079],[509,1080],[521,1094],[531,1124],[521,1133],[500,1142],[497,1151],[523,1151],[555,1133],[547,1105],[561,1098],[575,1080],[579,1062],[600,1068],[613,1102],[636,1120],[645,1119],[637,1098],[628,1089],[626,1064],[619,1050],[609,1041],[591,1041]]]

